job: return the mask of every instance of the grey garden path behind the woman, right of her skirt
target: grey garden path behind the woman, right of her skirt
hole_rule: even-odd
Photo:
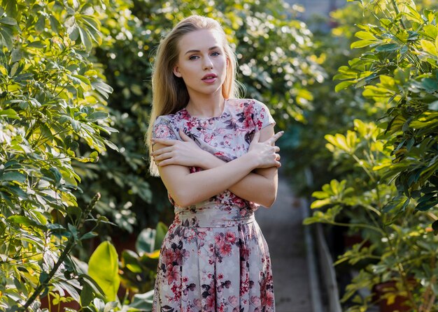
[[[280,172],[276,202],[256,212],[271,254],[276,312],[312,311],[302,205]]]

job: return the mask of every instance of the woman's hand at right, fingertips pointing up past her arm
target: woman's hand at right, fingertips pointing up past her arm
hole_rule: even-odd
[[[257,161],[256,168],[271,168],[271,167],[280,167],[280,155],[278,151],[280,151],[280,147],[275,145],[275,142],[281,138],[283,135],[283,131],[280,131],[271,136],[265,142],[259,142],[260,132],[256,131],[254,133],[253,140],[250,143],[248,154],[251,154],[255,161]]]

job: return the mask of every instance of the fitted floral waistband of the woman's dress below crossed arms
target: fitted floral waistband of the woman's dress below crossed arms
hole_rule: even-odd
[[[221,210],[217,207],[199,210],[184,209],[175,211],[174,223],[189,228],[227,228],[255,221],[254,211],[232,209]],[[242,216],[242,213],[244,215]]]

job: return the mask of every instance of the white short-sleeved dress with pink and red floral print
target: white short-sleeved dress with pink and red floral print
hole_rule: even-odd
[[[153,138],[181,140],[182,129],[202,149],[232,161],[248,151],[255,129],[269,124],[274,119],[263,103],[228,99],[220,117],[191,117],[185,109],[158,117]],[[258,205],[228,190],[190,207],[169,200],[175,220],[161,248],[153,311],[275,311],[269,251],[254,218]]]

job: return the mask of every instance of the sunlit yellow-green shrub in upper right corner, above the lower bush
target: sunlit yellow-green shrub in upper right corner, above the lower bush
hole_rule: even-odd
[[[395,147],[395,165],[387,174],[395,178],[399,196],[418,200],[417,209],[426,211],[438,204],[438,14],[393,5],[393,18],[359,25],[361,40],[352,47],[372,48],[339,68],[337,77],[364,87],[363,95],[373,101],[393,104],[383,116],[386,138]]]

